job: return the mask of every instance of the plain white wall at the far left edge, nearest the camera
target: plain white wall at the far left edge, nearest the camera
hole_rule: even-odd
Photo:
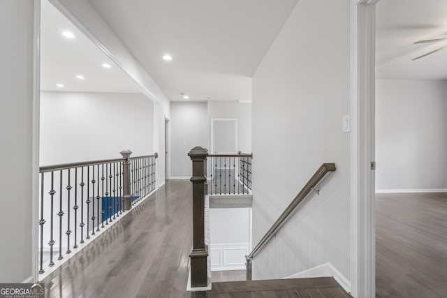
[[[0,1],[0,282],[33,274],[33,32],[35,1]]]

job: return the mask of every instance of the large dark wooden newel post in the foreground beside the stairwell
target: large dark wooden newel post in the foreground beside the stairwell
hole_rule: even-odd
[[[208,151],[202,147],[194,147],[189,151],[189,157],[193,161],[193,251],[191,258],[191,287],[206,287],[207,257],[205,246],[205,188],[206,167]]]

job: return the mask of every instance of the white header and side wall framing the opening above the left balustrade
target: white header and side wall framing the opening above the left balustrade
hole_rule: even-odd
[[[88,0],[50,0],[50,2],[59,10],[62,10],[64,15],[68,17],[68,20],[76,20],[75,26],[79,27],[95,43],[98,43],[101,50],[110,55],[119,64],[119,67],[140,85],[142,93],[156,103],[154,109],[157,111],[158,117],[156,117],[154,127],[154,151],[159,153],[165,152],[164,121],[165,117],[170,118],[170,100]],[[164,154],[159,154],[158,162],[157,185],[161,185],[165,182]]]

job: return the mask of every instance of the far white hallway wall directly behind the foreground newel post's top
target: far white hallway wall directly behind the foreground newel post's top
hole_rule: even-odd
[[[193,147],[207,148],[207,103],[177,103],[170,106],[170,177],[191,178]]]

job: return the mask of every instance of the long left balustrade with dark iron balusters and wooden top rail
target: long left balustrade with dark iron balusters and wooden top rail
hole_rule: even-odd
[[[155,190],[158,154],[120,154],[122,158],[40,167],[39,274],[57,265],[54,254],[62,260],[72,249],[79,251],[91,235]]]

